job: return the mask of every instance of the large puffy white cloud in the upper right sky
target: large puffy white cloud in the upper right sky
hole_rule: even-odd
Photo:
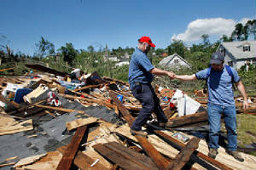
[[[212,19],[198,19],[189,23],[187,30],[180,34],[172,36],[172,40],[183,40],[183,42],[193,42],[201,39],[203,34],[211,36],[227,35],[230,36],[234,31],[237,23],[246,24],[249,18],[243,18],[240,21],[224,18],[212,18]]]

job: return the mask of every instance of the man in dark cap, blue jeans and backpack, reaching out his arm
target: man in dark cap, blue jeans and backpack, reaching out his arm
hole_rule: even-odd
[[[228,146],[226,152],[238,161],[244,161],[237,150],[236,132],[236,105],[232,83],[235,82],[241,96],[243,97],[243,109],[247,109],[247,94],[237,74],[236,69],[229,65],[224,66],[224,56],[220,53],[212,54],[211,68],[199,71],[193,75],[174,75],[183,81],[207,80],[208,89],[208,120],[209,131],[209,153],[208,156],[215,159],[218,155],[218,133],[220,131],[221,114],[224,114],[224,123],[227,129]]]

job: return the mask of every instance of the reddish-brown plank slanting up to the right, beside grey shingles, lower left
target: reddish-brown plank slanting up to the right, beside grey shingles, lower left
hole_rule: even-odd
[[[65,153],[57,167],[58,170],[68,170],[71,167],[73,159],[79,150],[80,142],[84,138],[84,133],[86,132],[86,129],[87,126],[79,127],[76,133],[73,135],[73,138],[71,139],[71,142],[67,145],[67,150],[65,150]]]

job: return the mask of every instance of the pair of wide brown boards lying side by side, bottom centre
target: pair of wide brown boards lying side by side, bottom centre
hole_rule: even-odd
[[[157,169],[148,156],[116,142],[96,144],[93,148],[124,169]]]

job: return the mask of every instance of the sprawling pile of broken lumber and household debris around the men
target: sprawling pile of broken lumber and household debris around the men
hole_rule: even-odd
[[[246,169],[254,156],[236,161],[219,149],[207,156],[207,143],[177,128],[207,125],[207,96],[155,87],[169,122],[158,127],[154,113],[148,138],[133,136],[131,122],[142,106],[127,82],[71,74],[43,65],[28,77],[0,78],[0,167],[9,169]],[[251,110],[255,114],[255,100]],[[236,99],[241,110],[241,99]]]

